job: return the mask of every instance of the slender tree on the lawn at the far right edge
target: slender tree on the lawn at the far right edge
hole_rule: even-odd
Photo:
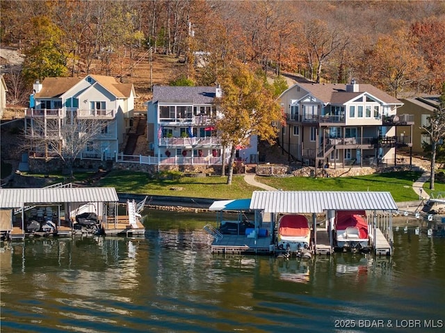
[[[430,190],[434,190],[437,146],[444,145],[445,140],[445,83],[442,84],[442,95],[439,106],[428,117],[428,125],[421,127],[430,137],[431,163],[430,163]]]

